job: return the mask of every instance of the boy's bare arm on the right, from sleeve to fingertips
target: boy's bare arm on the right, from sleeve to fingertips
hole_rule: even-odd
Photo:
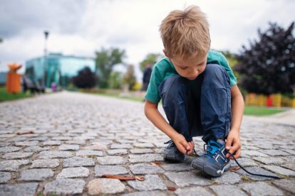
[[[244,99],[237,85],[231,88],[232,95],[232,126],[227,136],[226,149],[229,153],[234,153],[234,158],[239,158],[241,155],[241,142],[239,141],[239,129],[242,123],[244,113]],[[229,154],[227,154],[229,157]],[[233,159],[232,157],[229,157]]]

